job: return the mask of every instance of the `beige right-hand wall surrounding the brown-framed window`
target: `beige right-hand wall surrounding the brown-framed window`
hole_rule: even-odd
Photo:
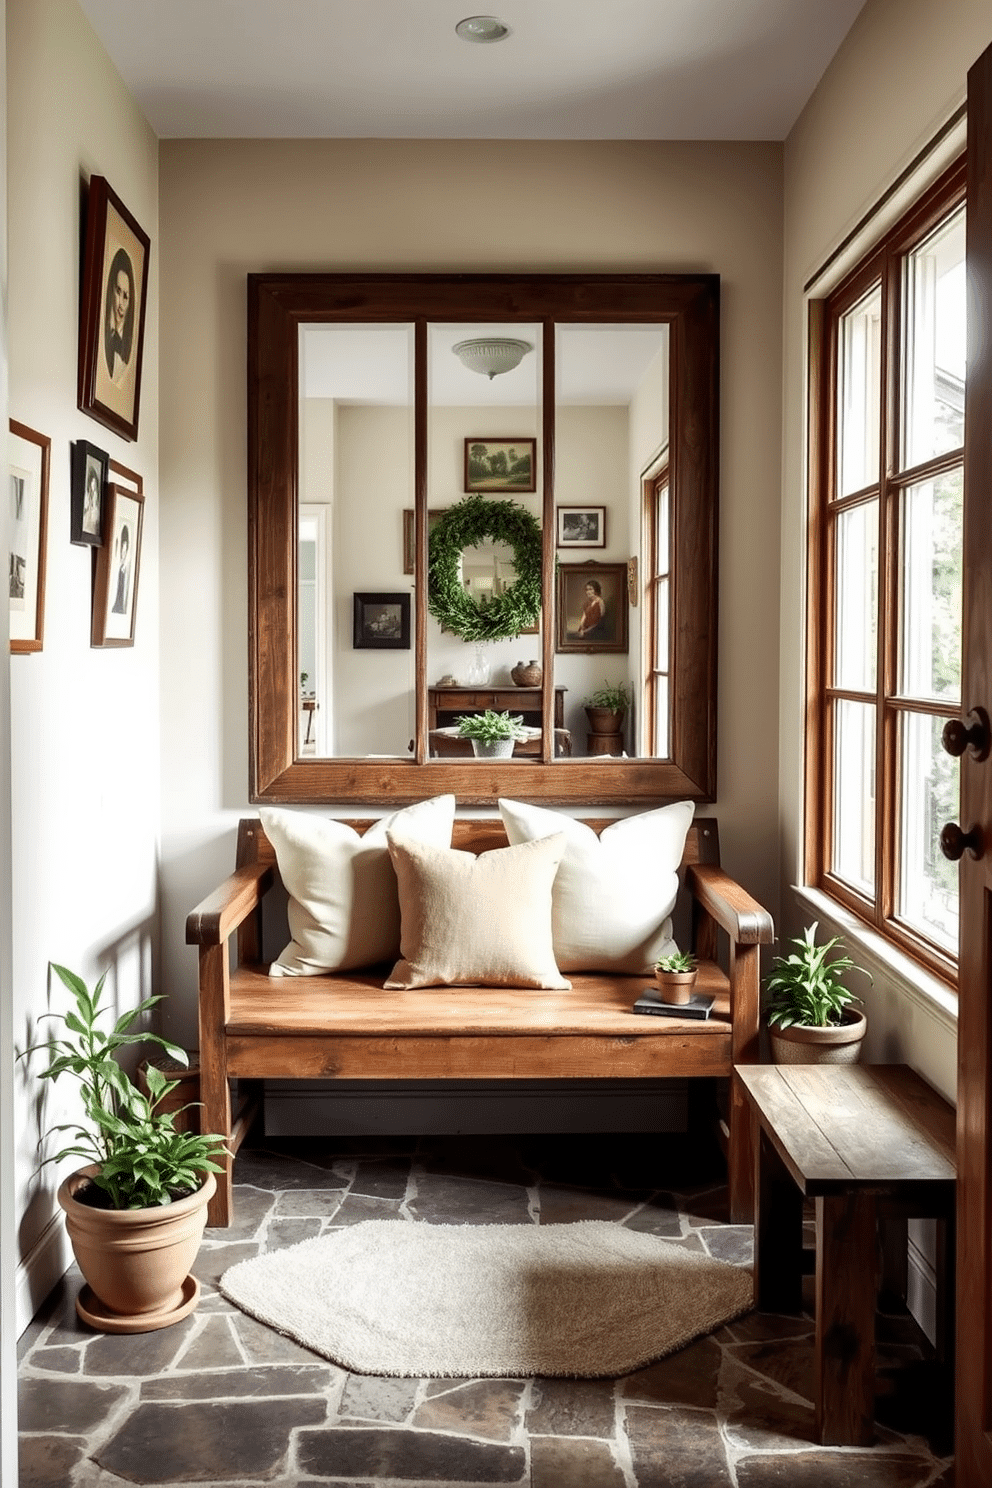
[[[802,875],[803,591],[806,555],[803,284],[964,101],[968,65],[992,40],[988,0],[869,0],[785,143],[784,470],[779,817],[784,930],[809,908]],[[937,170],[937,159],[930,167]],[[918,978],[858,948],[875,973],[869,1056],[907,1059],[953,1098],[956,1019]]]

